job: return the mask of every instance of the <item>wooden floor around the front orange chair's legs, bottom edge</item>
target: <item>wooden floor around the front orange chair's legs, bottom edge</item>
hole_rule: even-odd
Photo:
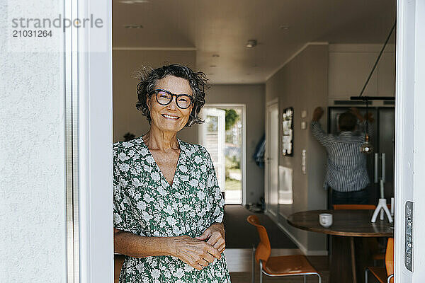
[[[301,254],[298,249],[272,249],[271,256]],[[232,283],[251,282],[251,249],[231,248],[225,250],[227,267],[229,268]],[[307,257],[314,268],[322,275],[322,282],[329,282],[329,258],[327,256]],[[118,283],[120,268],[123,265],[123,256],[115,255],[115,283]],[[256,265],[256,281],[259,282],[259,266]],[[295,277],[267,277],[263,276],[263,282],[303,282],[302,276]],[[308,276],[307,282],[319,282],[317,276]]]

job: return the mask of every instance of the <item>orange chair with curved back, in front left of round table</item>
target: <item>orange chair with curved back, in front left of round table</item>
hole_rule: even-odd
[[[317,275],[319,277],[319,283],[322,283],[322,277],[319,275],[319,272],[310,265],[310,262],[308,262],[304,255],[271,257],[271,246],[266,228],[261,226],[258,217],[255,215],[246,217],[246,221],[256,226],[260,236],[260,243],[255,250],[255,260],[260,265],[260,283],[263,283],[263,274],[271,277],[304,275],[304,282],[307,280],[307,275]],[[254,283],[254,250],[252,260],[251,280]]]

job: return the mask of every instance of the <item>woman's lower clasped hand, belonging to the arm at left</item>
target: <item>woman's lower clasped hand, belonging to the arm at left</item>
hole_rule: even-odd
[[[212,245],[189,236],[174,237],[171,245],[172,256],[183,260],[197,270],[207,267],[214,258],[221,258],[218,250]]]

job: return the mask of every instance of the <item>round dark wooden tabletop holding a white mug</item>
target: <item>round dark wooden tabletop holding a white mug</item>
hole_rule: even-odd
[[[319,214],[333,215],[333,223],[324,228],[319,224]],[[373,210],[309,210],[297,212],[288,217],[288,223],[298,229],[325,233],[336,236],[351,237],[392,237],[394,225],[388,219],[371,223]]]

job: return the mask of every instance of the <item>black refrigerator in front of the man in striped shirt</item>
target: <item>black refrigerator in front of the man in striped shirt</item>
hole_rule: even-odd
[[[349,110],[350,107],[328,108],[329,134],[339,134],[339,115]],[[365,107],[358,107],[358,110],[362,115],[366,112]],[[370,184],[366,189],[369,192],[369,204],[378,204],[381,178],[384,180],[384,196],[387,203],[390,203],[391,197],[394,197],[395,108],[369,107],[368,112],[371,112],[375,119],[373,123],[368,125],[373,129],[370,143],[373,144],[374,148],[373,153],[367,155]],[[329,200],[328,198],[328,207]]]

